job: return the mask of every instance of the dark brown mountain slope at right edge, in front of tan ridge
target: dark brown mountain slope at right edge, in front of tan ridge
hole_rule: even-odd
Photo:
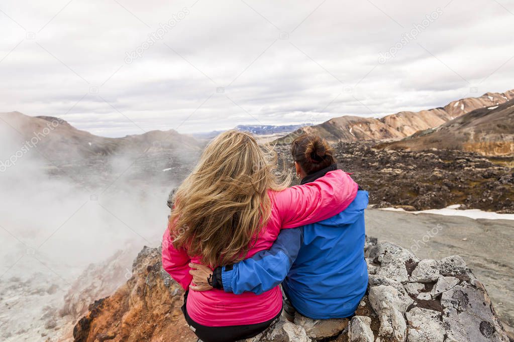
[[[514,100],[473,110],[433,129],[378,146],[382,149],[421,151],[463,150],[484,155],[514,154]]]

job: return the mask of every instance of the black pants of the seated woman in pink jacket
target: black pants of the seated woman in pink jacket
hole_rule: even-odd
[[[187,323],[191,327],[195,328],[194,333],[196,336],[198,336],[198,338],[204,342],[232,342],[238,339],[253,337],[266,330],[266,328],[268,328],[275,319],[280,317],[282,312],[282,310],[280,310],[277,316],[263,323],[249,324],[245,326],[207,327],[196,323],[191,317],[189,317],[188,311],[186,309],[188,292],[189,291],[184,293],[184,305],[182,305],[182,313],[184,314]]]

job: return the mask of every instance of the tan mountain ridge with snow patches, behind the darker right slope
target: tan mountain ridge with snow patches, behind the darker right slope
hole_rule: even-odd
[[[445,107],[419,112],[399,112],[381,118],[340,116],[320,125],[304,127],[306,133],[318,134],[329,142],[355,142],[360,140],[400,139],[420,130],[442,125],[455,117],[478,108],[496,106],[514,98],[514,90],[505,93],[485,93],[480,97],[468,97],[450,102]],[[277,140],[288,143],[298,135],[290,133]]]

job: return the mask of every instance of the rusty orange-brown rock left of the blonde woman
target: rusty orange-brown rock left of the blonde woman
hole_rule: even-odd
[[[183,318],[182,288],[162,269],[160,248],[144,247],[132,275],[112,295],[89,305],[73,331],[75,341],[94,342],[115,335],[117,341],[180,340],[196,342]]]

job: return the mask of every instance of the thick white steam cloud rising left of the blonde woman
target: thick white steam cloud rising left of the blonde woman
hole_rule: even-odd
[[[9,160],[24,139],[0,126],[0,160]],[[0,305],[13,307],[9,315],[0,313],[6,327],[0,339],[21,338],[27,327],[33,329],[27,334],[42,329],[43,317],[62,307],[84,269],[117,250],[132,255],[124,259],[126,272],[113,280],[124,283],[141,248],[160,245],[168,194],[196,158],[152,149],[71,162],[49,160],[44,148],[29,149],[0,172]]]

